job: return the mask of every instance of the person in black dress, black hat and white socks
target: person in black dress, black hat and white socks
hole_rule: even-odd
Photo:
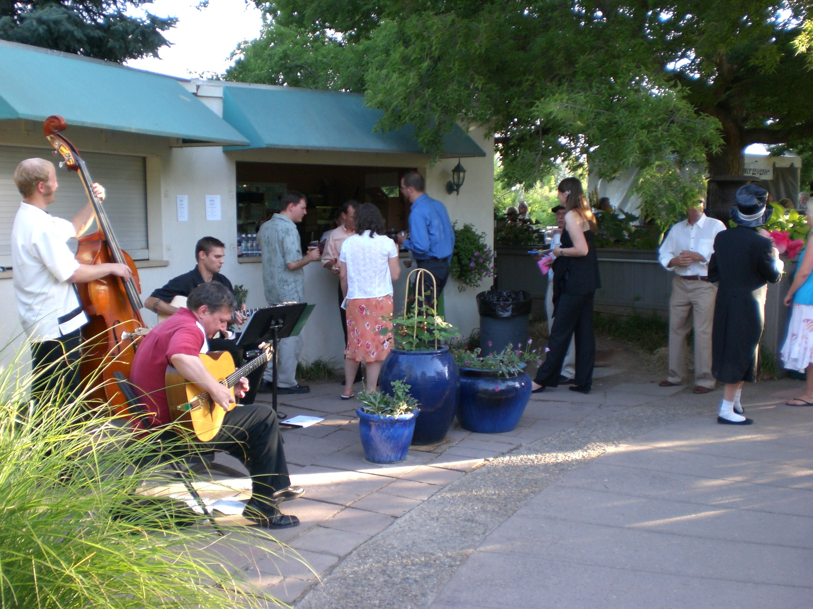
[[[777,283],[785,265],[772,241],[757,232],[772,214],[766,205],[767,190],[746,184],[737,188],[734,200],[737,205],[731,208],[731,218],[737,227],[717,234],[709,261],[709,281],[719,282],[711,330],[711,374],[725,383],[717,422],[750,425],[754,421],[742,416],[742,383],[754,382],[756,376],[767,282]]]

